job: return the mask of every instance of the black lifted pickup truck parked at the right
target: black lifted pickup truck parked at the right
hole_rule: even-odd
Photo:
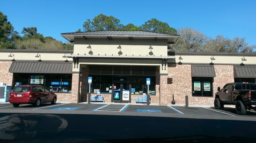
[[[236,113],[244,115],[247,109],[256,110],[256,83],[234,82],[226,84],[222,89],[218,87],[215,93],[215,109],[224,105],[236,105]]]

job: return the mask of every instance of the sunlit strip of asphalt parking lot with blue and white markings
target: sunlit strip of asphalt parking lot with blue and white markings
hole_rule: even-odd
[[[136,104],[112,104],[112,103],[92,103],[92,104],[71,104],[71,103],[57,103],[55,105],[52,104],[41,104],[40,107],[34,107],[29,104],[22,104],[19,107],[15,108],[12,104],[9,103],[1,103],[0,104],[0,112],[3,111],[12,111],[12,112],[40,112],[44,109],[44,111],[90,111],[90,112],[129,112],[129,113],[144,113],[150,112],[154,114],[170,114],[170,115],[193,115],[193,116],[230,116],[230,117],[256,117],[256,111],[251,110],[248,111],[246,115],[238,115],[236,114],[234,107],[225,107],[224,109],[218,110],[214,109],[214,107],[185,107],[178,105],[168,105],[168,106],[156,106],[156,105],[136,105]]]

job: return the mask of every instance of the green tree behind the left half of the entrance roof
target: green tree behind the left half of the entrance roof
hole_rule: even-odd
[[[116,19],[113,16],[106,16],[103,14],[99,14],[93,21],[87,19],[84,22],[84,31],[102,31],[102,30],[118,30],[122,28],[122,24],[120,24],[120,20]]]

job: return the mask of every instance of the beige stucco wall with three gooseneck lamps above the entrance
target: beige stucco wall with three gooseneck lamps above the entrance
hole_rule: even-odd
[[[91,49],[87,48],[90,44]],[[127,56],[149,56],[151,50],[150,45],[153,48],[152,56],[167,56],[167,41],[166,40],[154,40],[154,39],[82,39],[77,38],[74,44],[74,54],[89,54],[89,51],[93,51],[93,55],[119,55],[118,46],[121,46],[122,55]]]

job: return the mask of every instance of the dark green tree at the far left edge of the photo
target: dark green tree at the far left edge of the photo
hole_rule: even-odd
[[[13,47],[11,41],[13,30],[11,22],[7,21],[7,16],[0,11],[0,49]]]

